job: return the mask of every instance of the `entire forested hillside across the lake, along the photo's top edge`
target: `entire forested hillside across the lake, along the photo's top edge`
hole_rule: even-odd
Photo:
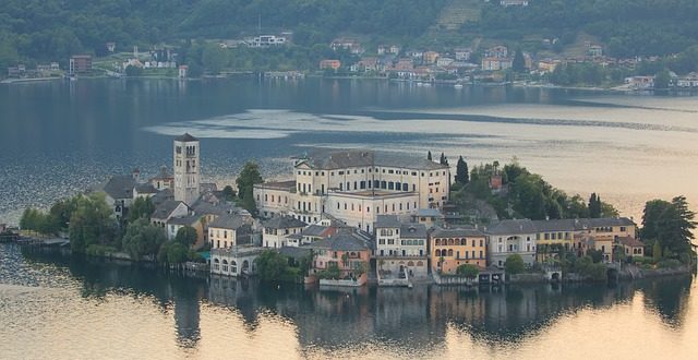
[[[696,0],[530,0],[503,8],[468,2],[460,29],[438,26],[456,0],[3,0],[0,67],[65,59],[75,52],[121,50],[180,39],[237,38],[281,29],[310,48],[340,34],[375,41],[434,46],[438,37],[517,44],[559,38],[564,51],[580,33],[612,56],[664,56],[698,44]],[[457,4],[457,3],[456,3]],[[459,8],[454,8],[459,9]],[[447,17],[447,16],[446,16]],[[533,49],[534,50],[534,49]]]

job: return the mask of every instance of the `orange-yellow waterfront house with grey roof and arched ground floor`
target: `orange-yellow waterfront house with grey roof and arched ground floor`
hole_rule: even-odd
[[[464,264],[488,266],[485,235],[477,229],[436,228],[430,236],[432,272],[455,275]]]

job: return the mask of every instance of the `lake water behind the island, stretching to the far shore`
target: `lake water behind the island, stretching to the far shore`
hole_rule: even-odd
[[[171,167],[171,137],[202,139],[205,178],[249,158],[284,176],[315,147],[369,147],[455,166],[514,156],[626,216],[685,194],[698,208],[698,97],[357,80],[80,80],[0,84],[0,223],[139,167]]]

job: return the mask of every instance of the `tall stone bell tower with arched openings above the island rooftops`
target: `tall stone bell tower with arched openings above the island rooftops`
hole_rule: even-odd
[[[174,200],[192,205],[200,196],[198,139],[183,134],[174,139]]]

